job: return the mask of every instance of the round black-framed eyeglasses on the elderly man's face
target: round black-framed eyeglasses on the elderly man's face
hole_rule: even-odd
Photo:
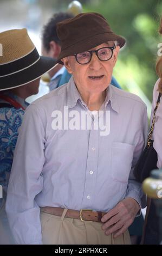
[[[102,47],[102,48],[99,48],[98,50],[77,53],[77,54],[74,54],[74,56],[76,61],[79,64],[87,64],[92,59],[92,54],[94,52],[96,56],[98,56],[99,60],[101,60],[102,62],[106,62],[106,60],[109,60],[112,58],[113,50],[115,48],[116,48],[116,45],[112,47]]]

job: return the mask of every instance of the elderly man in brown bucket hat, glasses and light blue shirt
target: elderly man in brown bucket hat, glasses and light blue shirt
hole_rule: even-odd
[[[23,244],[130,243],[127,228],[145,206],[133,167],[147,112],[110,84],[125,39],[97,13],[62,21],[57,33],[58,62],[73,76],[25,112],[7,197],[11,229]]]

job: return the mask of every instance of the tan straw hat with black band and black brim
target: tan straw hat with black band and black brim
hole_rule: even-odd
[[[56,64],[38,54],[25,28],[0,33],[0,47],[0,91],[32,82]]]

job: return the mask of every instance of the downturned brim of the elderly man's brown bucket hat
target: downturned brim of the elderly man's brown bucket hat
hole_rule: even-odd
[[[75,44],[70,45],[66,49],[63,49],[57,59],[57,63],[63,65],[63,62],[61,61],[61,59],[63,59],[64,57],[81,53],[83,51],[88,51],[91,48],[94,48],[98,45],[103,44],[104,42],[111,41],[111,40],[118,41],[120,48],[123,47],[126,42],[126,40],[122,38],[122,36],[116,35],[113,32],[97,34],[97,35],[91,36],[86,40],[76,42]]]

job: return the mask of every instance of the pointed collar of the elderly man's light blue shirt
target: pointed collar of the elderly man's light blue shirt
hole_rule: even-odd
[[[80,100],[83,105],[86,106],[85,102],[83,102],[81,95],[79,91],[77,90],[73,76],[70,78],[68,82],[68,87],[67,87],[67,105],[68,108],[73,108],[75,107],[77,100]],[[118,100],[116,97],[115,90],[112,86],[112,84],[109,84],[109,86],[106,89],[106,98],[105,101],[103,102],[103,108],[106,109],[107,104],[110,102],[111,107],[114,111],[119,113],[119,105],[118,105]],[[102,110],[102,109],[101,109]]]

